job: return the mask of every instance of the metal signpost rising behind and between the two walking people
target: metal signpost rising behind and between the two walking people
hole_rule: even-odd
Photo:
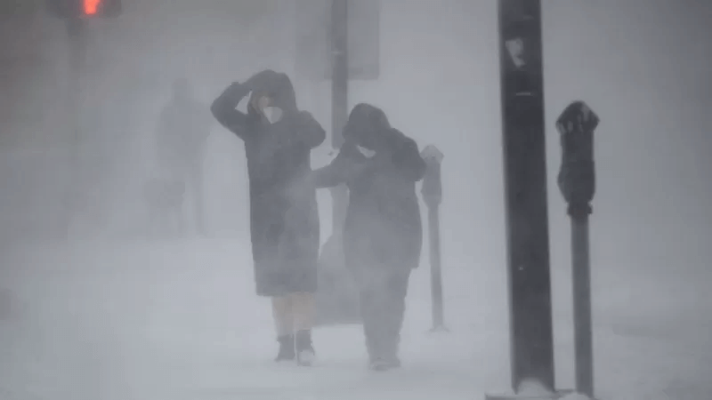
[[[348,0],[331,2],[331,146],[341,148],[344,143],[342,131],[349,117],[349,64],[348,64]],[[348,192],[341,185],[331,189],[333,207],[333,230],[341,232],[346,218]]]

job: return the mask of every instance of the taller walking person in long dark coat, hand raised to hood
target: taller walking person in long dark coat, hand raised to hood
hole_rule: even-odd
[[[236,107],[248,94],[244,114]],[[269,69],[231,84],[211,110],[245,142],[256,292],[272,300],[277,361],[312,364],[320,225],[308,177],[312,148],[326,140],[326,132],[296,107],[287,75]]]

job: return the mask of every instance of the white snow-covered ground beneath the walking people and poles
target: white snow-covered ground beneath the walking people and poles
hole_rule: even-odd
[[[404,367],[374,373],[357,325],[320,327],[312,369],[272,363],[269,303],[255,297],[236,241],[15,246],[0,258],[2,400],[477,399],[508,387],[504,266],[445,263],[448,333],[428,332],[429,274],[417,270]],[[673,298],[653,276],[625,279],[599,279],[605,295],[595,287],[598,396],[712,398],[704,282]],[[566,280],[554,274],[561,388],[573,382]],[[700,317],[683,317],[691,313]]]

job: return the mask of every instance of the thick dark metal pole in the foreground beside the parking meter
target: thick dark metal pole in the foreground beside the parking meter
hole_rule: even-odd
[[[512,386],[554,392],[539,0],[499,0]]]

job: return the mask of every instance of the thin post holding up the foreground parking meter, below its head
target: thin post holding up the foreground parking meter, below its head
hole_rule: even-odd
[[[576,343],[576,390],[594,396],[593,327],[591,323],[591,269],[588,253],[588,214],[571,215],[573,258],[573,318]]]

